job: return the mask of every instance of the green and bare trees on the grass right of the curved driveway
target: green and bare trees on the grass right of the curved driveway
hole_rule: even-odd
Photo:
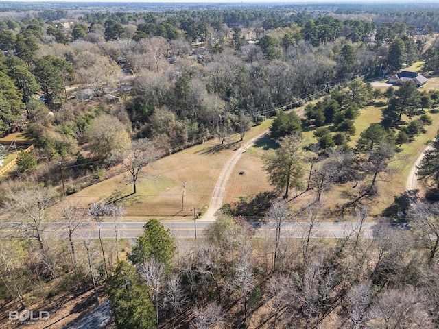
[[[265,159],[265,169],[271,184],[283,198],[292,201],[304,193],[313,193],[320,202],[322,191],[334,185],[351,184],[337,205],[340,215],[357,210],[366,199],[379,195],[379,181],[385,180],[394,155],[404,143],[409,143],[431,125],[426,110],[436,108],[437,90],[420,92],[414,82],[405,82],[398,90],[385,91],[388,106],[383,118],[361,132],[355,147],[348,145],[355,134],[354,119],[373,97],[382,97],[381,90],[355,80],[344,89],[333,89],[322,101],[305,107],[305,118],[294,112],[279,112],[270,127],[270,136],[278,147]],[[408,122],[403,121],[402,115]],[[316,143],[302,136],[302,127],[313,126]],[[437,182],[438,169],[434,164],[436,151],[429,151],[418,175]],[[423,163],[424,163],[423,162]],[[308,172],[308,168],[309,173]],[[306,184],[303,184],[306,182]],[[291,197],[290,190],[294,190]]]

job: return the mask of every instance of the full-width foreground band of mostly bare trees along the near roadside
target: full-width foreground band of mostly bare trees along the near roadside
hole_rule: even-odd
[[[26,187],[11,185],[2,195],[19,225],[2,229],[0,246],[1,293],[23,307],[27,293],[47,285],[49,295],[95,287],[99,298],[97,287],[106,282],[118,328],[439,323],[435,203],[412,205],[411,230],[378,223],[368,239],[362,235],[368,216],[363,207],[354,225],[346,223],[342,238],[324,243],[311,239],[329,215],[320,202],[300,212],[284,200],[273,202],[265,220],[275,230],[257,238],[242,218],[220,217],[195,241],[172,238],[152,219],[126,255],[117,234],[123,208],[65,204],[56,215],[65,239],[54,240],[54,195],[40,185]],[[103,221],[114,223],[116,239],[82,234],[81,229],[95,230],[100,237]],[[294,240],[283,238],[291,222],[302,228]],[[12,229],[22,239],[4,239]]]

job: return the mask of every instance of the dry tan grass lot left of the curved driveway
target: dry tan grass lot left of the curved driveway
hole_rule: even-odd
[[[132,185],[127,185],[126,175],[89,186],[71,195],[82,206],[99,199],[116,201],[127,208],[128,216],[184,216],[190,209],[203,209],[209,205],[211,194],[222,167],[230,158],[232,148],[221,148],[219,142],[204,144],[162,158],[147,168],[150,178],[137,184],[137,194],[132,195]],[[185,188],[184,210],[181,211],[182,186]]]

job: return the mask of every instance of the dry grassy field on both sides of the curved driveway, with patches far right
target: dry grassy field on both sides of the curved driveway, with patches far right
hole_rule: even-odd
[[[438,80],[438,81],[436,81]],[[439,82],[438,78],[431,79],[425,88],[431,88]],[[377,106],[372,105],[361,109],[361,114],[355,120],[357,133],[351,137],[351,146],[355,145],[359,134],[372,122],[381,120],[381,110],[385,107],[385,99],[377,100]],[[297,111],[300,108],[296,109]],[[372,215],[379,215],[389,206],[395,195],[405,191],[405,181],[420,151],[425,143],[436,134],[439,129],[439,114],[431,114],[433,125],[425,127],[426,134],[416,137],[415,141],[403,145],[398,154],[401,160],[392,164],[393,174],[382,178],[381,194],[374,203]],[[254,127],[244,137],[243,143],[254,136],[263,133],[271,125],[272,120],[266,120]],[[313,141],[313,132],[305,132],[309,141]],[[236,149],[239,136],[233,136],[228,146],[220,145],[219,141],[211,140],[196,145],[155,162],[148,168],[151,177],[143,179],[137,186],[137,194],[132,195],[132,186],[127,185],[126,175],[117,175],[114,178],[89,186],[84,190],[71,195],[82,206],[88,206],[98,200],[115,201],[124,204],[127,208],[128,219],[143,220],[144,217],[180,219],[191,217],[193,208],[197,212],[204,212],[211,200],[213,188],[228,158]],[[263,137],[248,149],[237,163],[230,176],[224,203],[233,204],[239,200],[252,199],[258,193],[271,191],[265,173],[263,156],[267,149],[272,148],[270,138]],[[239,174],[243,172],[242,174]],[[182,186],[186,182],[184,206],[182,210]],[[350,188],[350,186],[345,187]],[[329,206],[343,202],[340,198],[342,189],[335,189],[330,195],[323,197]],[[311,197],[311,196],[310,196]],[[304,196],[304,199],[306,195]]]

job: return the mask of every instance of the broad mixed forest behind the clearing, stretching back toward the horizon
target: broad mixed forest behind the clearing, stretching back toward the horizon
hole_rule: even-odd
[[[251,28],[233,26],[242,20]],[[376,26],[328,15],[315,19],[308,12],[285,16],[282,9],[96,12],[67,25],[29,17],[2,23],[0,49],[8,56],[1,55],[0,71],[8,77],[0,99],[10,101],[1,106],[0,125],[11,130],[29,120],[44,156],[54,160],[72,160],[83,143],[93,141],[88,128],[102,119],[102,109],[117,112],[131,137],[150,138],[173,151],[215,134],[245,133],[280,106],[317,97],[342,80],[379,73],[379,67],[398,69],[392,61],[411,62],[420,51],[414,38],[419,31],[404,23]],[[246,42],[255,36],[257,44]],[[404,49],[392,46],[399,39]],[[192,49],[193,41],[203,42],[204,52]],[[193,51],[198,62],[189,56]],[[176,64],[169,64],[169,56],[177,57]],[[108,90],[119,90],[123,105],[90,108],[81,103],[83,90],[68,101],[67,84],[89,88],[100,100]],[[34,95],[43,97],[54,117],[46,116]],[[319,125],[321,111],[314,112]],[[352,120],[355,110],[344,112]],[[340,131],[351,130],[349,124],[345,120]]]

